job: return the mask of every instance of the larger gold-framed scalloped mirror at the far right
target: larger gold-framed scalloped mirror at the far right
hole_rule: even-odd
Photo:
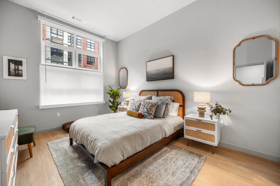
[[[279,41],[267,35],[242,40],[233,50],[233,79],[265,85],[278,76]]]

